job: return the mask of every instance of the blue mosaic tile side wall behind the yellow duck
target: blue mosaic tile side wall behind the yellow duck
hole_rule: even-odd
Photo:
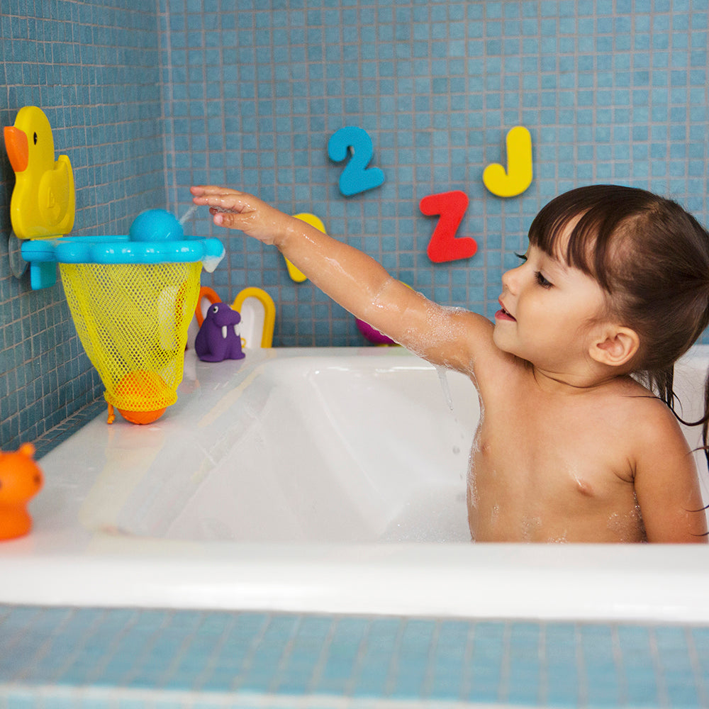
[[[125,233],[165,206],[155,8],[131,0],[0,0],[0,124],[43,108],[77,190],[74,235]],[[0,150],[0,449],[34,441],[103,393],[62,286],[9,266],[14,174]]]

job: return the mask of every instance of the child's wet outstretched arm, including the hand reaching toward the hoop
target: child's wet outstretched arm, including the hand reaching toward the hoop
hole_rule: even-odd
[[[343,308],[430,362],[470,371],[476,350],[494,347],[486,318],[438,306],[302,220],[233,189],[194,186],[191,192],[195,204],[209,206],[216,225],[275,245]]]

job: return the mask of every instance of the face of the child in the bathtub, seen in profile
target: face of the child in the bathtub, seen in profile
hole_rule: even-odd
[[[557,374],[588,361],[605,311],[603,289],[593,278],[530,246],[502,284],[493,333],[501,350]]]

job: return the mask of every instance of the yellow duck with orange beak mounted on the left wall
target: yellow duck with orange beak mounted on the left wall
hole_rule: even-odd
[[[13,231],[21,239],[68,234],[74,227],[74,174],[66,155],[55,160],[44,111],[24,106],[4,135],[16,179],[10,201]]]

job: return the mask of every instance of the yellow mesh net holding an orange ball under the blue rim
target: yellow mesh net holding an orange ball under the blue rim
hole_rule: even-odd
[[[79,339],[120,410],[177,401],[201,262],[60,264]]]

